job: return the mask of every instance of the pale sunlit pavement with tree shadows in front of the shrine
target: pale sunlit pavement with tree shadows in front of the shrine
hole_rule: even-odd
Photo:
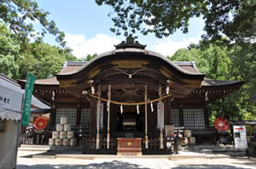
[[[167,158],[154,157],[152,155],[143,155],[129,158],[127,156],[112,155],[98,155],[99,158],[93,160],[77,159],[77,158],[32,158],[32,155],[40,155],[44,151],[19,151],[18,169],[240,169],[256,168],[256,159],[251,158],[247,160],[246,157],[240,156],[234,158],[205,158],[203,154],[196,154],[192,152],[181,152],[180,157],[187,155],[188,158],[177,158],[175,160],[168,160]],[[197,156],[196,156],[197,155]],[[148,156],[145,158],[145,156]],[[192,158],[194,156],[194,158]],[[218,156],[218,155],[216,155]],[[189,158],[190,157],[190,158]],[[203,157],[203,158],[201,158]],[[172,159],[172,158],[171,158]]]

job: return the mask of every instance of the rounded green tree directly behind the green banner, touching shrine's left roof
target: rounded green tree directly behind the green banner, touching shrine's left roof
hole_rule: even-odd
[[[63,50],[47,43],[27,43],[23,47],[24,58],[19,60],[20,78],[25,79],[31,72],[38,79],[55,76],[59,73],[65,61],[77,61],[70,50]]]

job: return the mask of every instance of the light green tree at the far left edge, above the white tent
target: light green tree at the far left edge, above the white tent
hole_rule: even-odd
[[[19,76],[17,59],[20,57],[20,44],[12,38],[6,25],[0,22],[0,73],[16,78]]]

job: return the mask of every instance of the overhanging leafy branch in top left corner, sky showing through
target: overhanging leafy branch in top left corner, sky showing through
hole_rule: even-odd
[[[64,33],[60,31],[53,20],[47,20],[49,12],[44,12],[38,7],[38,3],[32,0],[1,0],[0,1],[0,19],[9,25],[21,41],[26,42],[27,37],[31,36],[36,41],[41,41],[44,34],[49,32],[54,35],[55,41],[62,47],[65,46]],[[35,30],[28,20],[38,20],[43,26],[41,33],[34,33]]]

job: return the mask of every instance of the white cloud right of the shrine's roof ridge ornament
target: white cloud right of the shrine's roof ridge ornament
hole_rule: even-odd
[[[158,41],[157,44],[153,45],[153,50],[157,53],[163,54],[164,56],[172,56],[179,48],[187,48],[190,43],[198,43],[200,38],[189,38],[183,39],[181,42],[172,42],[170,39],[164,41]]]

